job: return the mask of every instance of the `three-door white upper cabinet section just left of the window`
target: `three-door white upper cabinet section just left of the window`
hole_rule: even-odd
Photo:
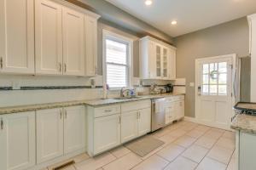
[[[36,73],[96,76],[97,14],[36,0]]]

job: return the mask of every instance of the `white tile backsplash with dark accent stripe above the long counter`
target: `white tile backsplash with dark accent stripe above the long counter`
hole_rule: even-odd
[[[91,88],[90,81],[95,80],[96,88]],[[139,86],[139,78],[133,81],[137,92],[149,94],[152,81],[143,81]],[[165,85],[170,81],[156,81]],[[175,84],[175,81],[172,81]],[[20,90],[21,88],[21,90]],[[174,92],[184,93],[183,87],[174,87]],[[16,90],[15,90],[16,89]],[[119,97],[119,90],[108,91],[108,98]],[[1,76],[0,107],[13,105],[32,105],[82,99],[102,98],[102,76],[88,77],[32,77],[32,76]]]

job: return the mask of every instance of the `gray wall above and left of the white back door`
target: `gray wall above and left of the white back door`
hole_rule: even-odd
[[[246,17],[174,38],[177,47],[177,77],[186,78],[185,115],[195,117],[195,59],[237,54],[246,56],[249,47]]]

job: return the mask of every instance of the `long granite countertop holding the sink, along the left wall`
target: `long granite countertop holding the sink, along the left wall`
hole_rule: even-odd
[[[78,100],[78,101],[67,101],[67,102],[57,102],[48,104],[35,104],[35,105],[17,105],[9,107],[0,107],[0,115],[26,112],[26,111],[38,111],[45,109],[54,109],[59,107],[69,107],[75,105],[90,105],[93,107],[100,107],[103,105],[113,105],[121,104],[125,102],[143,100],[143,99],[158,99],[164,97],[172,97],[184,94],[152,94],[152,95],[142,95],[136,99],[90,99],[90,100]]]

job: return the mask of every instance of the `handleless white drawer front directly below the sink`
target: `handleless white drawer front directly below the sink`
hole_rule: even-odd
[[[151,100],[132,101],[121,105],[121,111],[135,111],[151,107]]]

